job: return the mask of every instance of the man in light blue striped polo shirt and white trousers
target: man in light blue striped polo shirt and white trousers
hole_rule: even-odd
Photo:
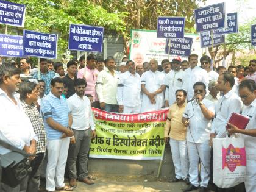
[[[47,136],[48,163],[46,169],[46,190],[73,190],[64,183],[66,159],[68,157],[69,137],[74,133],[71,130],[72,116],[69,112],[66,99],[62,95],[64,85],[59,77],[52,79],[51,92],[43,99],[44,127]],[[68,136],[68,137],[67,137]]]

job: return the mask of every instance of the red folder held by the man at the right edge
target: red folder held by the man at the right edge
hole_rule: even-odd
[[[229,123],[233,124],[234,126],[238,127],[239,129],[245,129],[247,124],[249,123],[250,118],[247,116],[243,116],[238,113],[232,113],[229,118]],[[230,129],[229,124],[226,125],[227,129]]]

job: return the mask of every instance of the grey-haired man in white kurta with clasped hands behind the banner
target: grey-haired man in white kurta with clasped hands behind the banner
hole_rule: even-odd
[[[163,80],[165,75],[157,71],[157,60],[151,59],[149,65],[150,70],[141,76],[141,90],[143,91],[141,112],[158,110],[164,105]]]

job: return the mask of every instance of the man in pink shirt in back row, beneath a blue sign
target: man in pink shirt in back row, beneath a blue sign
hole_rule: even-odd
[[[99,71],[96,67],[96,57],[94,54],[88,54],[86,59],[86,65],[84,68],[80,69],[77,73],[77,78],[84,78],[87,82],[87,87],[85,89],[85,94],[91,94],[93,96],[93,104],[91,107],[99,107],[99,99],[96,93],[96,80]]]

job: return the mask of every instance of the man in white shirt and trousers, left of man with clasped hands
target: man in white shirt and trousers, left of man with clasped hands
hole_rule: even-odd
[[[118,79],[116,99],[119,105],[119,113],[140,113],[140,76],[135,73],[135,63],[133,61],[127,61],[126,68],[127,71],[119,74]]]

